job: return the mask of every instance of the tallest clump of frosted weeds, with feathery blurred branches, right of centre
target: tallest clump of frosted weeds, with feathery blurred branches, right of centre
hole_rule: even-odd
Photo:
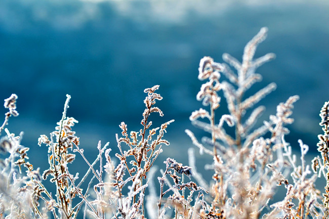
[[[289,116],[298,96],[280,103],[276,115],[271,115],[260,127],[254,127],[265,107],[253,107],[276,88],[270,83],[254,95],[245,97],[246,91],[262,78],[256,73],[257,68],[275,57],[270,53],[254,59],[256,48],[266,34],[267,28],[262,28],[248,42],[241,63],[228,54],[223,55],[223,60],[235,68],[236,73],[227,64],[216,63],[211,57],[200,61],[198,78],[207,82],[201,85],[196,98],[202,100],[204,106],[209,105],[210,112],[200,108],[192,113],[190,120],[211,133],[212,138],[203,137],[200,143],[190,130],[186,133],[200,153],[205,152],[214,159],[213,182],[206,187],[211,197],[204,199],[207,204],[203,204],[198,212],[201,218],[306,218],[321,214],[318,191],[314,188],[316,176],[311,174],[308,165],[305,166],[308,147],[300,142],[302,166],[297,166],[291,147],[284,141],[284,135],[289,133],[284,125],[293,122]],[[229,81],[220,81],[221,73]],[[217,123],[215,110],[220,105],[220,91],[223,91],[230,114],[222,115]],[[251,113],[246,113],[248,110],[252,110]],[[199,118],[206,118],[209,123]],[[234,134],[226,132],[225,123],[234,127]],[[266,133],[270,133],[270,137],[265,138]],[[293,184],[288,180],[289,167],[293,167]],[[268,206],[277,185],[286,187],[286,197],[282,202]],[[294,200],[298,205],[295,206]],[[264,210],[265,207],[268,209]],[[268,213],[264,214],[266,211]]]

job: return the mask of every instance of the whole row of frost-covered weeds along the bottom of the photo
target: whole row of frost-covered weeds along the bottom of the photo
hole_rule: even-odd
[[[294,121],[290,116],[298,96],[280,103],[276,114],[256,127],[265,107],[254,106],[276,88],[270,83],[246,96],[262,79],[257,68],[275,57],[270,53],[254,59],[266,34],[267,28],[262,28],[245,46],[242,62],[229,54],[223,55],[227,64],[211,57],[200,60],[198,78],[205,82],[196,99],[205,108],[192,112],[190,120],[209,137],[198,140],[191,130],[186,134],[200,154],[213,160],[207,166],[213,172],[211,182],[196,171],[197,160],[189,149],[189,165],[168,158],[155,183],[153,164],[169,145],[164,136],[173,122],[152,127],[150,114],[163,115],[154,106],[162,99],[155,93],[158,85],[144,90],[147,96],[141,129],[129,131],[125,122],[119,125],[118,162],[112,159],[109,143],[102,146],[99,142],[93,162],[85,157],[72,130],[77,120],[66,116],[67,95],[55,131],[38,139],[39,146],[48,147],[49,167],[43,173],[28,161],[29,148],[21,145],[22,136],[5,128],[11,116],[18,116],[17,96],[13,94],[5,100],[9,111],[0,128],[0,134],[6,132],[0,141],[0,150],[6,156],[0,164],[0,218],[328,218],[329,103],[320,114],[324,134],[318,136],[317,146],[321,157],[315,157],[311,166],[305,162],[307,145],[300,140],[301,154],[296,156],[284,140],[289,133],[285,125]],[[221,93],[229,114],[217,116]],[[234,133],[227,132],[228,128]],[[89,168],[72,175],[68,164],[76,156],[81,156]],[[322,176],[327,184],[317,189],[314,183]],[[45,181],[53,183],[54,189],[46,187]],[[282,191],[284,198],[273,200]]]

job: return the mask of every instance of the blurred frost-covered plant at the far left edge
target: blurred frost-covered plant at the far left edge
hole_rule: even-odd
[[[5,100],[5,108],[9,109],[0,129],[4,129],[10,116],[18,116],[16,111],[17,95],[12,94]],[[6,136],[0,140],[0,218],[47,218],[47,210],[36,210],[39,205],[39,193],[43,190],[39,168],[34,169],[28,162],[29,148],[21,145],[23,133],[15,136],[5,128]]]

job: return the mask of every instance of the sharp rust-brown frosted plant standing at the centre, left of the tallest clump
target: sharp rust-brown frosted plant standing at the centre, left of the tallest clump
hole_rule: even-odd
[[[169,145],[169,142],[163,139],[163,135],[167,132],[166,129],[168,125],[174,120],[163,123],[159,127],[150,128],[152,125],[152,121],[149,121],[151,113],[157,112],[160,116],[163,116],[162,111],[158,107],[153,106],[156,100],[162,100],[162,97],[155,93],[158,88],[159,85],[155,85],[144,90],[144,93],[147,93],[147,97],[144,100],[146,108],[141,121],[142,128],[139,132],[132,131],[130,132],[130,136],[128,136],[127,125],[122,122],[120,124],[122,137],[118,138],[118,135],[116,135],[120,154],[115,154],[115,156],[120,160],[119,165],[121,165],[120,171],[122,177],[120,178],[121,183],[115,185],[114,189],[117,189],[119,191],[118,194],[121,194],[122,187],[127,184],[128,181],[132,181],[133,184],[130,186],[128,196],[124,197],[119,195],[116,205],[117,209],[114,213],[115,217],[128,219],[143,218],[145,216],[144,196],[148,181],[146,183],[143,183],[143,181],[147,179],[147,172],[150,171],[155,159],[162,152],[162,145]],[[156,138],[154,138],[153,136],[155,136],[156,133],[158,134]],[[152,140],[152,138],[154,139]],[[122,150],[121,143],[125,143],[128,149]],[[124,178],[125,170],[129,173],[128,179]],[[111,174],[110,172],[108,173]],[[113,179],[115,179],[115,176],[113,176]]]

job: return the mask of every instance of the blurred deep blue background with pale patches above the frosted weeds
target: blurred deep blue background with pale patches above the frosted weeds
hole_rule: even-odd
[[[154,125],[176,121],[158,164],[163,168],[168,156],[186,163],[193,146],[184,129],[199,133],[188,120],[201,107],[195,99],[202,84],[199,60],[223,62],[224,52],[241,60],[246,42],[267,26],[256,57],[272,52],[277,58],[258,69],[263,81],[252,91],[272,81],[277,89],[260,103],[267,108],[260,122],[278,103],[300,95],[286,139],[297,150],[302,139],[315,153],[319,111],[329,100],[328,24],[324,0],[1,0],[0,99],[18,95],[20,115],[8,127],[17,135],[24,131],[31,162],[43,165],[47,148],[39,148],[37,138],[54,130],[66,94],[72,97],[67,115],[79,121],[74,130],[93,159],[99,140],[116,151],[121,121],[129,130],[140,129],[143,90],[159,84],[163,100],[157,106],[165,116],[154,115]],[[218,115],[226,113],[222,103]]]

